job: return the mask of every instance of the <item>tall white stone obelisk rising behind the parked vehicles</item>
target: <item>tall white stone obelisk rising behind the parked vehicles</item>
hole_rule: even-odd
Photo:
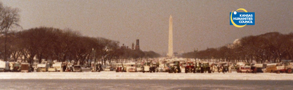
[[[173,57],[173,21],[172,21],[172,15],[170,15],[169,19],[169,46],[168,46],[168,57]]]

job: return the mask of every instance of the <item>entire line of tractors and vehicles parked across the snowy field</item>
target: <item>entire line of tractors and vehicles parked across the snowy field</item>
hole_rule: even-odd
[[[30,65],[28,63],[0,61],[0,72],[83,72],[83,66],[74,62],[47,62]],[[249,64],[237,63],[211,63],[204,61],[146,61],[128,63],[110,63],[102,66],[100,63],[92,63],[92,72],[115,71],[115,72],[168,72],[168,73],[214,73],[232,72],[237,73],[292,73],[292,60],[282,60],[281,63],[272,64]]]

